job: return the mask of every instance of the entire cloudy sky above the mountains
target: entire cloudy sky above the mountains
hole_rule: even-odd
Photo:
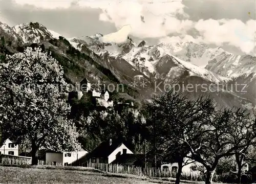
[[[193,41],[255,55],[255,0],[1,0],[0,21],[37,21],[67,38],[119,29],[147,44]]]

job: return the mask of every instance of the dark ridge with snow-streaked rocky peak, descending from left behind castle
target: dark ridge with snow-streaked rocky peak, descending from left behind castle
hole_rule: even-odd
[[[17,40],[24,39],[24,41],[18,47],[16,47],[16,45],[13,46],[12,51],[6,54],[23,52],[26,47],[41,47],[43,51],[47,51],[49,53],[51,52],[53,57],[59,61],[65,70],[65,78],[70,83],[75,84],[76,82],[80,82],[82,79],[84,79],[84,77],[87,77],[92,84],[95,84],[95,86],[98,86],[103,82],[106,84],[106,86],[108,86],[110,83],[113,84],[114,87],[113,85],[110,86],[110,91],[115,89],[118,84],[122,83],[112,71],[93,60],[89,55],[76,50],[67,39],[59,36],[59,34],[55,33],[54,31],[48,30],[44,26],[37,23],[23,25],[24,27],[22,25],[18,25],[16,28],[18,27],[18,30],[32,31],[17,31],[17,29],[9,27],[13,34],[15,31],[17,31]],[[31,28],[28,27],[29,25],[31,25]],[[37,25],[37,27],[35,28],[34,25]],[[42,30],[40,30],[40,28],[42,28]],[[33,33],[33,30],[35,31],[35,34]],[[5,40],[8,37],[13,37],[8,33],[2,35]],[[38,35],[41,35],[40,39],[37,38]],[[23,38],[21,36],[23,36]],[[58,39],[54,38],[58,36]],[[7,43],[1,43],[1,48],[6,49],[8,47]],[[16,42],[14,41],[13,43]],[[1,54],[4,54],[4,49],[1,49]],[[140,94],[136,91],[136,89],[132,89],[128,85],[124,85],[123,89],[121,88],[120,90],[120,93],[128,94],[128,98],[140,98]],[[131,95],[131,97],[129,97],[129,95]]]

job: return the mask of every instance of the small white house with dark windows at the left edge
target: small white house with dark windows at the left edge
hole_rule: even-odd
[[[0,155],[1,154],[18,156],[18,145],[15,145],[10,139],[5,140],[2,144],[0,143]]]

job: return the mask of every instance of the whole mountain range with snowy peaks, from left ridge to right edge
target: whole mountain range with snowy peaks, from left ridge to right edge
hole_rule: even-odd
[[[42,44],[45,50],[51,51],[73,83],[88,77],[95,83],[123,84],[125,93],[135,98],[150,98],[153,93],[166,91],[166,86],[193,85],[193,91],[184,87],[179,91],[191,98],[209,95],[220,105],[229,107],[252,108],[256,104],[254,96],[230,90],[234,80],[229,75],[215,73],[213,65],[202,68],[192,64],[195,58],[210,59],[209,64],[214,63],[213,60],[224,62],[232,54],[221,48],[211,49],[191,42],[148,46],[142,41],[137,45],[129,37],[122,42],[104,42],[104,35],[100,33],[65,39],[37,22],[19,25],[13,30],[25,44]],[[135,80],[137,85],[131,86]],[[142,82],[146,85],[141,85]],[[204,84],[208,87],[206,91],[203,91]],[[209,88],[212,84],[214,91]],[[249,86],[250,91],[253,87]]]

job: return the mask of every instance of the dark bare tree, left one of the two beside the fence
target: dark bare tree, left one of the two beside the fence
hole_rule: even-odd
[[[148,111],[155,114],[153,131],[156,131],[156,149],[161,152],[161,159],[165,162],[178,162],[176,183],[180,182],[182,167],[190,162],[184,162],[190,152],[189,145],[184,142],[184,134],[189,134],[191,142],[198,139],[197,131],[190,125],[199,122],[206,114],[214,110],[215,106],[210,98],[199,98],[190,101],[179,93],[168,93],[157,96],[148,105]],[[199,127],[198,127],[199,128]],[[194,135],[195,136],[194,136]]]

